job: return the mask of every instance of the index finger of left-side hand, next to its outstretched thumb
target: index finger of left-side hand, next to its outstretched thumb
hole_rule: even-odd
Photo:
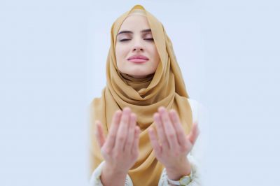
[[[122,111],[117,110],[114,115],[113,115],[113,120],[111,124],[111,129],[109,131],[109,135],[107,138],[108,143],[106,143],[106,148],[108,150],[112,150],[114,146],[116,145],[116,136],[117,136],[117,131],[120,123],[120,117],[122,116]]]

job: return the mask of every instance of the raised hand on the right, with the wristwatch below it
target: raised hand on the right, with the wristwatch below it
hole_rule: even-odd
[[[170,179],[177,180],[188,175],[191,167],[187,155],[200,133],[197,123],[193,124],[190,134],[186,136],[176,110],[172,109],[168,112],[161,106],[153,117],[158,138],[153,128],[148,132],[155,157],[165,166]]]

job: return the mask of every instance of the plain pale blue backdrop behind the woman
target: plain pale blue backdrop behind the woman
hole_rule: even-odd
[[[87,185],[87,106],[111,24],[141,4],[164,24],[209,110],[206,185],[279,185],[278,1],[0,1],[0,185]]]

